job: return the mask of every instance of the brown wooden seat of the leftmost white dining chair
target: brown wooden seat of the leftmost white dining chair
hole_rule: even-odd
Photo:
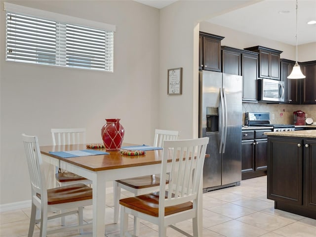
[[[40,193],[37,193],[37,196],[40,198]],[[92,188],[84,184],[68,185],[47,190],[48,205],[88,199],[92,199]]]

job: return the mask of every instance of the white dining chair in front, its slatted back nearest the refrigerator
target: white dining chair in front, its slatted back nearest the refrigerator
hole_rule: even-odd
[[[134,216],[134,226],[136,218],[158,225],[159,237],[166,236],[168,226],[183,234],[184,231],[174,224],[192,219],[193,236],[198,236],[198,226],[202,222],[202,214],[198,212],[198,204],[201,203],[198,200],[202,195],[200,181],[208,140],[199,138],[163,142],[159,192],[119,200],[120,237],[129,235],[128,215]],[[165,185],[167,179],[168,186]]]

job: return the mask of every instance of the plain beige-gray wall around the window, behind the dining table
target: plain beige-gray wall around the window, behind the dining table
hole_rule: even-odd
[[[117,31],[114,73],[7,62],[1,0],[1,204],[31,197],[22,133],[48,145],[51,128],[85,127],[87,142],[102,142],[105,119],[120,118],[124,142],[152,144],[158,126],[158,9],[135,1],[10,2],[113,24]]]

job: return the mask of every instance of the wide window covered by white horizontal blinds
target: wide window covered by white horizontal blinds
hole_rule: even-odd
[[[6,12],[6,60],[113,72],[114,32]]]

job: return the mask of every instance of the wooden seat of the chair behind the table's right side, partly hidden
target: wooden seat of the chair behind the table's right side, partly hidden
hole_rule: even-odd
[[[117,180],[117,182],[133,189],[145,189],[159,186],[160,178],[157,175],[146,175],[131,179]],[[169,181],[166,181],[166,184],[168,183]]]

